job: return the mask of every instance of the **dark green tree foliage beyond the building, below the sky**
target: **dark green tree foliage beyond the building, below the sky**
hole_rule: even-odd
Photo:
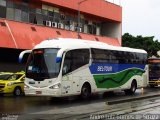
[[[144,49],[148,52],[148,56],[157,56],[157,51],[160,50],[160,42],[154,40],[154,36],[142,37],[132,36],[129,33],[125,33],[122,36],[122,46]]]

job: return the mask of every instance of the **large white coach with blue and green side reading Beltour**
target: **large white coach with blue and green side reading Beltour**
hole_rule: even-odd
[[[133,94],[148,84],[147,52],[106,43],[57,38],[44,40],[26,63],[25,95],[64,97],[123,90]]]

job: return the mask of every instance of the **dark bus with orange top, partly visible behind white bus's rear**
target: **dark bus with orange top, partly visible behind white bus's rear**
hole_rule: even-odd
[[[149,86],[155,87],[160,84],[160,58],[149,58]]]

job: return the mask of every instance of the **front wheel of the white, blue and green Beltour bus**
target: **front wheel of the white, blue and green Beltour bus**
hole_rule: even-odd
[[[85,83],[81,89],[81,98],[89,99],[91,96],[91,86],[89,83]]]

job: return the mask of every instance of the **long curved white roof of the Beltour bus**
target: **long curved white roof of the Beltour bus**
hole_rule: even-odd
[[[97,48],[97,49],[147,53],[145,50],[142,49],[118,47],[98,41],[89,41],[89,40],[73,39],[73,38],[56,38],[51,40],[44,40],[40,44],[36,45],[34,49],[39,49],[39,48],[60,48],[60,49],[63,48],[66,50],[80,49],[80,48],[88,48],[88,49]]]

